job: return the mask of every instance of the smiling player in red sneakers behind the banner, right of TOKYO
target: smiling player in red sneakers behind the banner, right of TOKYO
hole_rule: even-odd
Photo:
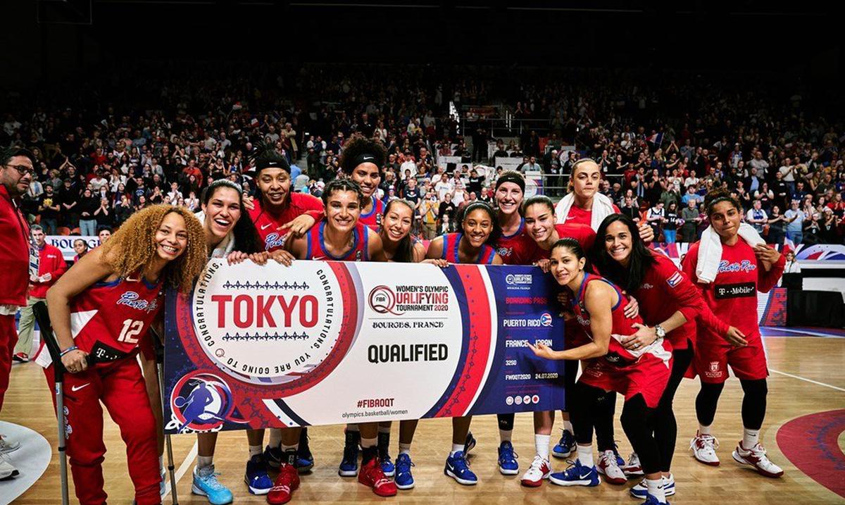
[[[358,221],[366,203],[361,187],[347,179],[335,179],[326,185],[323,193],[325,220],[308,231],[306,236],[286,242],[285,248],[297,259],[323,261],[385,261],[384,248],[379,235]],[[378,433],[375,422],[357,425],[363,447],[361,471],[358,482],[373,488],[380,497],[396,494],[396,486],[389,481],[379,463]],[[281,463],[279,477],[267,495],[270,503],[286,503],[299,486],[295,464],[301,428],[282,431],[281,447],[286,461]],[[357,464],[357,461],[356,461]],[[354,475],[354,474],[352,474]]]

